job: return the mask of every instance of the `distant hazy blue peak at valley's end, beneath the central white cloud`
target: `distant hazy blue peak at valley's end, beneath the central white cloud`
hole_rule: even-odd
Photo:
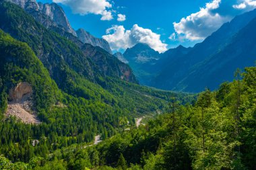
[[[191,48],[178,46],[159,54],[147,44],[136,44],[133,48],[127,48],[123,57],[128,60],[128,64],[133,69],[139,83],[155,87],[155,82],[162,83],[165,79],[168,79],[169,64],[175,62],[190,50]],[[167,74],[162,74],[158,79],[161,72]]]

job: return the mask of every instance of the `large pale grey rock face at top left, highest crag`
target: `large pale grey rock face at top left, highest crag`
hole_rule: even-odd
[[[56,3],[43,4],[43,3],[37,3],[36,0],[6,0],[6,1],[15,3],[16,5],[19,5],[20,7],[25,9],[28,13],[33,15],[36,18],[36,20],[38,20],[38,22],[46,26],[46,28],[50,26],[61,26],[62,28],[64,28],[66,32],[69,32],[74,36],[76,36],[75,30],[71,28],[69,24],[69,20],[65,15],[65,12]],[[36,13],[36,11],[38,13]],[[42,15],[40,15],[40,13],[48,16],[50,19],[43,17]]]

